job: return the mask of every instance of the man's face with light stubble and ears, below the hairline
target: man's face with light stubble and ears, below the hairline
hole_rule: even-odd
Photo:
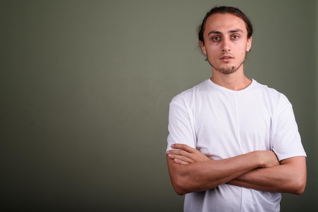
[[[243,70],[246,52],[251,48],[252,38],[247,39],[243,19],[226,13],[213,14],[206,23],[201,49],[207,55],[212,70],[231,74]]]

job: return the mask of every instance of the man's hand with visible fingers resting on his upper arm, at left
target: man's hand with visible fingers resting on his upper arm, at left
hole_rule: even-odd
[[[177,164],[189,164],[199,161],[211,160],[199,150],[191,148],[185,144],[173,144],[171,148],[175,150],[167,151],[167,156]]]

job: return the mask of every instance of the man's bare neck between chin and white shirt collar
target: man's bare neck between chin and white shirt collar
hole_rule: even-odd
[[[232,74],[223,74],[214,71],[210,80],[219,86],[235,91],[243,90],[252,83],[252,80],[244,75],[243,70],[239,70]]]

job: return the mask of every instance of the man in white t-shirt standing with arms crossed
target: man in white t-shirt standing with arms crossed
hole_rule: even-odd
[[[215,7],[199,28],[212,77],[173,98],[167,163],[184,211],[279,211],[281,192],[302,194],[306,153],[292,105],[243,72],[252,25]]]

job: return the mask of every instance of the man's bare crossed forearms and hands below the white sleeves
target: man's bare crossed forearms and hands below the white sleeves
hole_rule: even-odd
[[[306,186],[304,156],[278,161],[272,151],[253,151],[212,160],[187,145],[174,144],[167,152],[173,188],[179,195],[212,189],[224,183],[251,189],[302,194]]]

